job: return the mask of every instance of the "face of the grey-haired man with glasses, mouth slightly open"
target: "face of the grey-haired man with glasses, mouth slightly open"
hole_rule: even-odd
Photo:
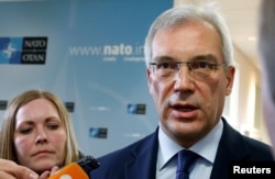
[[[195,60],[202,61],[199,66],[202,70],[204,61],[224,63],[221,40],[213,26],[189,22],[155,34],[151,63]],[[167,66],[158,69],[166,70]],[[169,76],[147,69],[150,92],[163,131],[184,147],[201,139],[220,120],[233,77],[234,67],[224,65],[216,66],[205,76],[190,70],[186,64]]]

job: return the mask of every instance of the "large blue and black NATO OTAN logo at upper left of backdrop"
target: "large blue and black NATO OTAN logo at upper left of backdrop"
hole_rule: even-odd
[[[0,64],[46,63],[47,37],[0,37]]]

